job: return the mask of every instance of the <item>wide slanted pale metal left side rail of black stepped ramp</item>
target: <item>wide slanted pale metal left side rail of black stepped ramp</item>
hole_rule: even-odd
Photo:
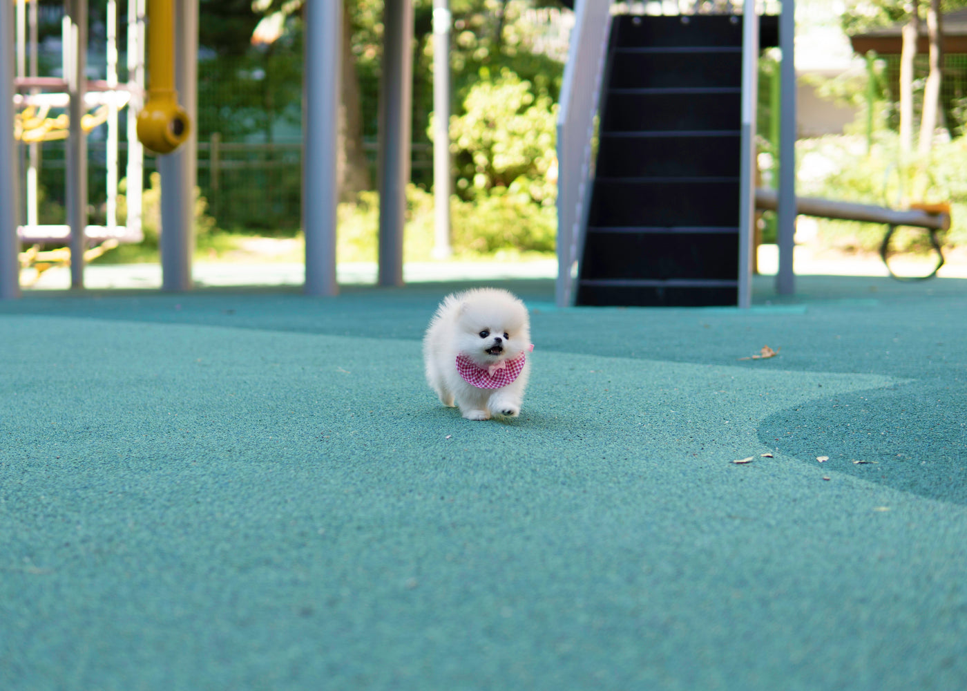
[[[611,0],[577,0],[557,112],[557,304],[573,303],[591,201],[592,143],[611,29]]]

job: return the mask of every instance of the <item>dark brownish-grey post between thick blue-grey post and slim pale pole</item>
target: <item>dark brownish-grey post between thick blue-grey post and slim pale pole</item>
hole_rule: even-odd
[[[379,285],[403,285],[403,226],[410,180],[413,3],[387,0],[379,103]]]

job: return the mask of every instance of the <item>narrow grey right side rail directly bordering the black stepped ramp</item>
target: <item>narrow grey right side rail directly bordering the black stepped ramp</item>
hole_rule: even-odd
[[[742,151],[739,185],[739,307],[752,304],[752,250],[755,223],[755,114],[759,83],[759,15],[746,0],[742,16]]]

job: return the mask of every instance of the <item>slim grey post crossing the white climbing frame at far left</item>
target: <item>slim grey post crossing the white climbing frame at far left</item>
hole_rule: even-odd
[[[71,287],[84,287],[87,249],[87,135],[81,127],[87,91],[87,0],[69,0],[64,76],[71,97],[67,146],[67,223],[71,227]]]

